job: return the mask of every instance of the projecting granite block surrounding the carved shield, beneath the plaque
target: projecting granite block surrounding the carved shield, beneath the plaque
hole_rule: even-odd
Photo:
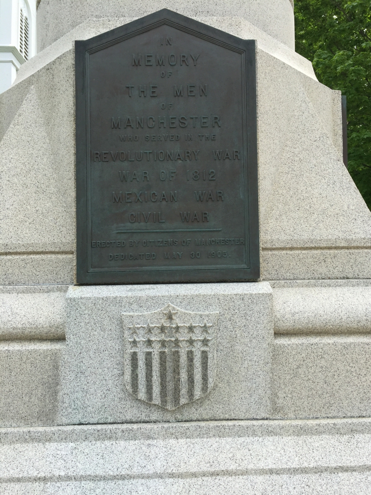
[[[130,363],[129,367],[124,364],[126,336],[122,321],[123,313],[139,313],[143,315],[139,323],[145,326],[148,321],[153,322],[151,311],[162,310],[169,303],[176,307],[173,326],[177,323],[182,326],[182,309],[187,312],[184,322],[192,323],[194,328],[198,323],[197,313],[205,315],[200,320],[202,325],[204,321],[207,324],[212,321],[213,313],[219,316],[216,328],[209,327],[207,333],[208,347],[215,352],[214,370],[211,370],[211,352],[209,354],[213,385],[210,384],[207,395],[189,402],[185,398],[184,405],[172,410],[153,403],[154,397],[151,401],[146,397],[140,400],[128,390],[126,383],[130,383],[131,376],[125,377],[125,373],[131,375],[131,371]],[[70,288],[66,296],[66,348],[61,366],[58,423],[269,417],[274,344],[272,303],[272,289],[267,283]],[[159,323],[164,321],[166,332],[170,324],[166,323],[165,315],[162,317]],[[186,329],[187,340],[179,334],[178,347],[186,352],[197,349],[196,332],[196,329],[191,332]],[[153,348],[155,333],[155,330],[146,333],[144,345],[148,339],[152,344],[143,350],[151,352],[153,359],[162,348]],[[140,337],[137,335],[136,339],[138,342]],[[166,339],[166,335],[161,339]],[[189,339],[193,344],[189,345]],[[133,340],[131,342],[133,344]],[[164,348],[168,359],[176,352]],[[137,351],[138,344],[134,349]],[[129,352],[131,350],[133,347]],[[139,359],[140,356],[139,349]],[[181,374],[190,372],[187,364],[180,363]],[[191,373],[195,380],[195,370]],[[172,374],[168,369],[168,378]]]

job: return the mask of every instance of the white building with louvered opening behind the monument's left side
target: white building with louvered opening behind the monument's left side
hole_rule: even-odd
[[[36,54],[37,0],[0,0],[0,93]]]

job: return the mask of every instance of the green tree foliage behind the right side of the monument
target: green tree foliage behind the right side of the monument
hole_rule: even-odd
[[[371,209],[371,1],[295,0],[295,49],[347,97],[348,170]]]

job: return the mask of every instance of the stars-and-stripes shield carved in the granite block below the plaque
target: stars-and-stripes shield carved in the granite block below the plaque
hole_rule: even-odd
[[[219,313],[172,304],[151,313],[123,313],[125,385],[135,397],[166,409],[192,402],[214,385]]]

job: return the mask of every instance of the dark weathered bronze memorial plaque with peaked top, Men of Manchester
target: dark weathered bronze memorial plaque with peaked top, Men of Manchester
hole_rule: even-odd
[[[77,283],[259,277],[255,42],[161,10],[76,42]]]

